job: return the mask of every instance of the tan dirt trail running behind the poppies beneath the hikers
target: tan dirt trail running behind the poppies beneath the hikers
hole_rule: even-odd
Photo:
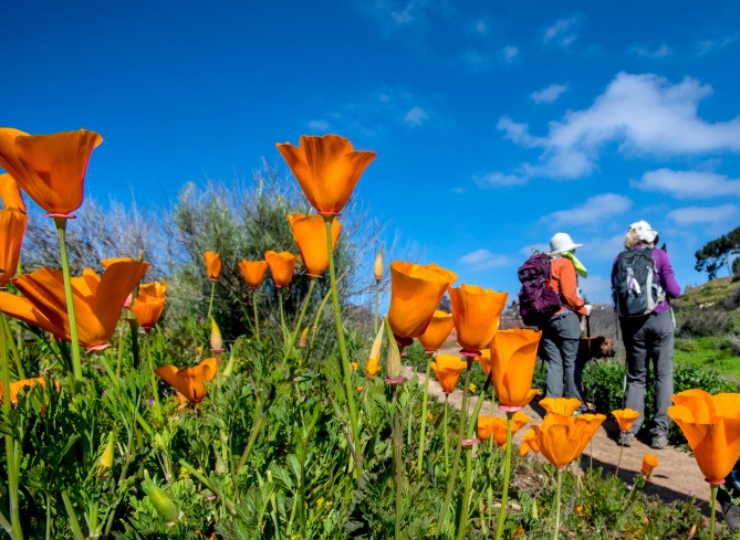
[[[411,368],[404,368],[404,377],[411,380],[418,377],[418,383],[424,384],[424,373],[417,373]],[[437,399],[439,402],[445,401],[445,393],[434,375],[429,381],[429,396]],[[477,396],[471,396],[469,400],[469,411],[473,412],[478,402]],[[536,399],[535,399],[536,401]],[[462,406],[462,391],[456,390],[449,396],[449,404],[458,410]],[[538,424],[542,421],[545,411],[539,406],[539,403],[533,403],[524,407],[523,411],[530,417],[530,424]],[[491,412],[491,401],[483,402],[482,414],[501,415],[498,410]],[[521,435],[527,431],[527,427],[519,431],[514,436],[517,445]],[[596,435],[593,437],[593,464],[595,468],[603,467],[604,474],[614,474],[616,470],[617,460],[619,459],[619,445],[616,440],[619,428],[614,419],[607,419],[600,427]],[[588,467],[588,447],[581,458],[581,468]],[[633,441],[632,446],[624,447],[622,452],[622,459],[619,462],[619,478],[626,484],[630,484],[635,475],[639,474],[643,464],[643,456],[645,454],[655,455],[660,464],[653,474],[653,483],[645,486],[644,493],[647,495],[658,495],[664,501],[671,502],[679,499],[694,498],[701,511],[709,516],[709,485],[705,481],[703,475],[694,459],[694,456],[676,446],[667,446],[664,449],[650,448],[649,444],[644,444],[640,441]],[[719,510],[719,506],[718,506]]]

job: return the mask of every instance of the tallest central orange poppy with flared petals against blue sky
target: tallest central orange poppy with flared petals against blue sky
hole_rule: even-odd
[[[324,215],[342,212],[359,177],[375,159],[375,152],[355,151],[352,142],[338,135],[304,135],[298,148],[290,142],[277,147],[305,198]]]

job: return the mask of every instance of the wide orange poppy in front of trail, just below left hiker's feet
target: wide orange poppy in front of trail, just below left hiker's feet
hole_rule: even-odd
[[[576,416],[548,414],[540,425],[532,426],[540,454],[555,467],[562,468],[579,457],[591,437],[585,434],[586,424]]]

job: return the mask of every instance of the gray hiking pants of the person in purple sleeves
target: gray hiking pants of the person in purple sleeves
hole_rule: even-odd
[[[674,393],[674,319],[670,310],[647,317],[621,317],[622,339],[627,352],[627,409],[639,413],[630,433],[645,421],[647,370],[655,369],[655,426],[653,436],[668,435],[668,406]]]

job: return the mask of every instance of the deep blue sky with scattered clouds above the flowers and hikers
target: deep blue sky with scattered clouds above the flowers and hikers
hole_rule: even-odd
[[[740,224],[737,0],[70,0],[0,24],[0,124],[103,135],[100,202],[286,170],[275,142],[335,133],[378,155],[355,197],[388,244],[513,295],[530,248],[569,232],[591,301],[629,223],[684,287]]]

